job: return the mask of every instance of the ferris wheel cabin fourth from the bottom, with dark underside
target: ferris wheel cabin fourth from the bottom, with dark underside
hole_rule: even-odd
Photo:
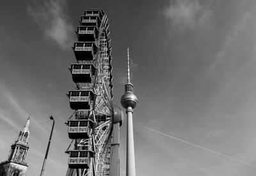
[[[70,71],[74,82],[91,83],[96,68],[93,64],[71,64]]]

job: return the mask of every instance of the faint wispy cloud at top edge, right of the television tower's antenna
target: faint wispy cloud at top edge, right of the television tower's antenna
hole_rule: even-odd
[[[168,19],[170,26],[179,32],[184,29],[209,27],[211,26],[212,12],[201,2],[198,0],[170,1],[170,5],[164,9],[163,14]]]

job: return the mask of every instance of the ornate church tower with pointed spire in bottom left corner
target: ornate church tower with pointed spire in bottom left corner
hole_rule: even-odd
[[[29,149],[29,121],[20,131],[18,139],[11,145],[11,150],[6,161],[0,163],[0,176],[25,176],[28,163],[25,163],[26,154]]]

